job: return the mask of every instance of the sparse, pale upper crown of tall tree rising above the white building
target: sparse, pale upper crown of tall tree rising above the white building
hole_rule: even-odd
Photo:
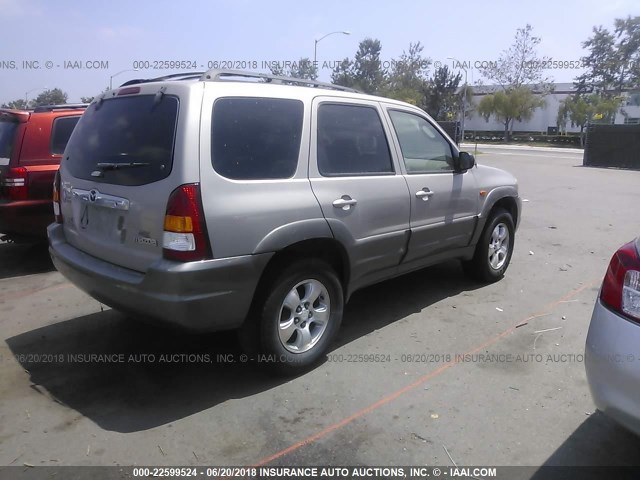
[[[549,59],[538,57],[537,46],[540,41],[539,37],[533,35],[531,25],[518,28],[513,44],[502,52],[497,62],[489,62],[480,68],[480,73],[505,91],[525,85],[538,90],[548,89],[550,80],[544,76],[543,67]]]

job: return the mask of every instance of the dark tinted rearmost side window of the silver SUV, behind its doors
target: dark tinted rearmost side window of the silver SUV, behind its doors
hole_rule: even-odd
[[[290,178],[296,172],[304,105],[278,98],[221,98],[213,106],[213,168],[233,180]]]

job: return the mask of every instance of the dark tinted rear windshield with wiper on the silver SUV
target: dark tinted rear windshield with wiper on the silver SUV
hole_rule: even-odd
[[[65,162],[77,178],[144,185],[166,178],[173,164],[178,99],[114,98],[87,108],[69,140]]]

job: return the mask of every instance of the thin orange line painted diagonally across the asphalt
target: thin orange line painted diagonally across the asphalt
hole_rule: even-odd
[[[537,317],[543,316],[547,313],[550,312],[550,310],[552,310],[553,308],[555,308],[556,306],[558,306],[561,303],[566,302],[567,300],[570,300],[572,297],[575,297],[576,295],[578,295],[580,292],[586,290],[587,288],[590,288],[594,285],[596,285],[597,283],[599,283],[601,280],[593,280],[588,284],[582,285],[581,287],[575,288],[573,290],[571,290],[570,292],[568,292],[567,294],[565,294],[563,297],[559,298],[558,300],[555,300],[549,304],[547,304],[540,312],[534,313],[533,315],[530,315],[527,318],[524,318],[520,321],[518,321],[515,325],[513,325],[512,327],[509,327],[508,329],[506,329],[504,332],[499,333],[491,338],[489,338],[488,340],[486,340],[484,343],[482,343],[481,345],[478,345],[476,347],[473,347],[471,350],[465,352],[462,355],[457,355],[455,360],[452,360],[449,363],[445,363],[444,365],[442,365],[441,367],[433,370],[432,372],[427,373],[426,375],[423,375],[422,377],[418,378],[416,381],[414,381],[413,383],[410,383],[409,385],[406,385],[405,387],[396,390],[393,393],[390,393],[384,397],[382,397],[380,400],[378,400],[377,402],[372,403],[371,405],[358,410],[357,412],[351,414],[350,416],[344,418],[343,420],[340,420],[339,422],[336,422],[332,425],[329,425],[328,427],[320,430],[317,433],[314,433],[313,435],[300,440],[299,442],[294,443],[293,445],[290,445],[287,448],[284,448],[282,450],[280,450],[279,452],[274,453],[273,455],[270,455],[268,457],[265,457],[261,460],[259,460],[258,462],[256,462],[253,466],[254,467],[260,467],[262,465],[266,465],[269,464],[271,462],[273,462],[274,460],[277,460],[279,458],[282,458],[290,453],[295,452],[296,450],[301,449],[302,447],[306,446],[306,445],[310,445],[318,440],[320,440],[321,438],[326,437],[327,435],[335,432],[336,430],[341,429],[342,427],[345,427],[347,425],[349,425],[350,423],[352,423],[354,420],[357,420],[361,417],[364,417],[365,415],[377,410],[378,408],[391,403],[393,400],[395,400],[396,398],[404,395],[405,393],[408,393],[414,389],[416,389],[417,387],[422,386],[424,383],[428,382],[429,380],[434,379],[435,377],[440,376],[441,374],[443,374],[444,372],[446,372],[447,370],[449,370],[450,368],[456,366],[461,362],[461,359],[465,358],[467,355],[473,355],[476,354],[480,351],[482,351],[483,349],[494,345],[495,343],[497,343],[500,339],[506,337],[507,335],[511,334],[512,332],[515,331],[516,328],[518,328],[521,325],[524,325],[525,323],[527,323],[530,320],[533,320]]]

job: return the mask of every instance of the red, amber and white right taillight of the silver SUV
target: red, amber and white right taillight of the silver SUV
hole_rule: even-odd
[[[162,236],[164,258],[192,262],[211,258],[200,185],[181,185],[169,196]]]

